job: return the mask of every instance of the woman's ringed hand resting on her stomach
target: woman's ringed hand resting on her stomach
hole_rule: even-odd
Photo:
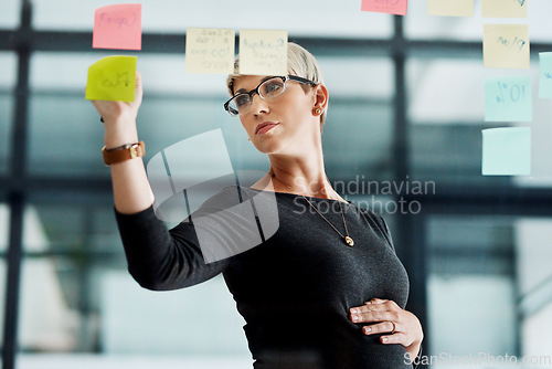
[[[422,325],[414,314],[402,309],[391,299],[381,298],[352,307],[350,313],[351,321],[369,323],[362,329],[364,335],[389,334],[381,336],[380,341],[385,345],[401,344],[414,361],[424,339]]]

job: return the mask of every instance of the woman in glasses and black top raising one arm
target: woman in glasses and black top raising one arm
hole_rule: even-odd
[[[268,155],[268,173],[240,190],[245,199],[274,191],[277,231],[254,249],[205,263],[192,222],[168,231],[156,218],[142,160],[120,159],[110,170],[129,272],[150,289],[223,273],[246,320],[255,368],[411,368],[423,331],[404,310],[408,280],[389,229],[380,215],[344,201],[326,177],[321,133],[329,95],[316,60],[289,43],[288,72],[229,76],[232,97],[224,105]],[[93,102],[107,154],[138,141],[141,97],[138,74],[134,103]]]

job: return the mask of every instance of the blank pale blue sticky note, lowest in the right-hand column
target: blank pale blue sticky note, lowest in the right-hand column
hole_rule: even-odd
[[[484,176],[531,175],[531,128],[501,127],[481,134]]]

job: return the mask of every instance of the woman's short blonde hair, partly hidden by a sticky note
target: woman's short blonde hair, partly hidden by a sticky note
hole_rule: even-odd
[[[294,43],[287,43],[287,70],[291,75],[307,78],[316,84],[323,84],[322,72],[318,66],[315,56],[309,53],[305,48]],[[230,96],[234,96],[234,82],[240,76],[240,55],[234,62],[234,74],[230,74],[226,80],[226,87],[229,88]],[[310,86],[302,84],[305,92],[309,91]],[[320,115],[320,133],[322,131],[326,122],[326,110]]]

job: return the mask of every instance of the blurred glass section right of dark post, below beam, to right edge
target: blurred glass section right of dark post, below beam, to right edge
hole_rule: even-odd
[[[471,355],[488,365],[516,361],[508,354],[550,366],[552,340],[540,331],[551,321],[551,224],[550,218],[428,219],[431,352],[450,355],[449,361]]]

